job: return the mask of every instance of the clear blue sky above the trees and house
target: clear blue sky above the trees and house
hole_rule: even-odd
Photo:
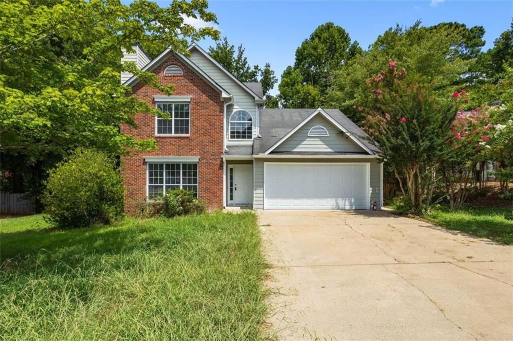
[[[162,6],[168,2],[157,1]],[[326,22],[343,27],[351,39],[367,48],[390,26],[425,26],[459,22],[485,28],[485,50],[509,28],[511,1],[209,1],[223,36],[230,44],[243,44],[251,64],[271,63],[278,77],[294,63],[295,49],[315,28]],[[201,25],[201,23],[199,23]],[[210,40],[200,41],[205,50]],[[272,93],[278,92],[278,84]]]

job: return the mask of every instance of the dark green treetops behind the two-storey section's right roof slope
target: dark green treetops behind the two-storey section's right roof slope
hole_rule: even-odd
[[[244,56],[245,51],[246,49],[241,44],[235,52],[235,46],[228,42],[227,37],[216,41],[215,46],[208,48],[210,56],[240,81],[261,82],[264,95],[267,96],[278,79],[274,76],[274,71],[269,63],[265,63],[263,69],[259,65],[251,67],[248,58]]]

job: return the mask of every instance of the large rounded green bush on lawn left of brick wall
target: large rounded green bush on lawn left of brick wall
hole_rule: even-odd
[[[50,171],[42,203],[58,227],[111,223],[123,215],[123,184],[116,162],[79,148]]]

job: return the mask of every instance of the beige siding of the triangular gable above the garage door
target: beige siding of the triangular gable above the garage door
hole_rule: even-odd
[[[311,127],[321,125],[329,136],[308,136]],[[349,136],[341,132],[333,123],[317,114],[297,132],[282,142],[275,152],[365,152]]]

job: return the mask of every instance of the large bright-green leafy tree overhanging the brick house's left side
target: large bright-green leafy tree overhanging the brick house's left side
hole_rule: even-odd
[[[61,159],[78,146],[110,155],[155,147],[152,139],[121,134],[139,112],[156,113],[130,96],[120,72],[159,87],[156,76],[121,63],[122,49],[140,42],[151,57],[168,46],[186,53],[189,41],[218,38],[185,17],[216,22],[206,0],[174,0],[168,7],[136,0],[37,0],[0,2],[0,152],[25,168]],[[19,162],[18,162],[19,163]],[[50,165],[47,165],[50,166]],[[46,167],[46,166],[45,166]],[[37,178],[37,176],[36,176]],[[38,181],[36,181],[37,183]],[[37,186],[36,186],[37,187]]]

